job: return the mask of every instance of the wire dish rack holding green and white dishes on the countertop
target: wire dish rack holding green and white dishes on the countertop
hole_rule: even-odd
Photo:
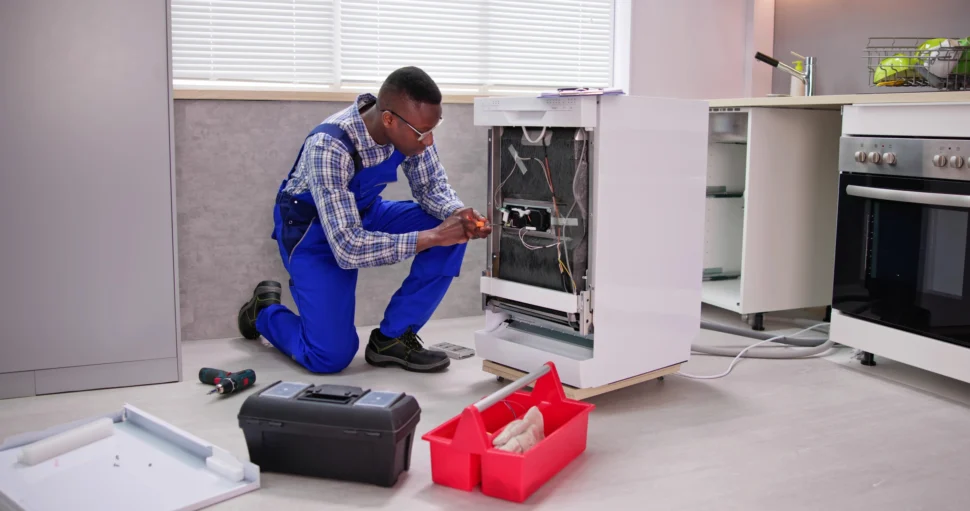
[[[970,90],[970,37],[870,37],[871,87]]]

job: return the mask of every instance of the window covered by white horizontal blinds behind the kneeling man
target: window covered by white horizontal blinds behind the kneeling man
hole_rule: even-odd
[[[180,88],[373,89],[416,65],[446,93],[610,86],[613,0],[172,0]]]

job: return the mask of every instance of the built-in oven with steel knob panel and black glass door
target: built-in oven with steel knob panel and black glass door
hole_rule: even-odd
[[[843,136],[832,308],[970,347],[970,140]]]

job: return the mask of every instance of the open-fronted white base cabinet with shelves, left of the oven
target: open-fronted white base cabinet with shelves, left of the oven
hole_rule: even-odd
[[[739,314],[832,299],[838,110],[711,108],[704,303]]]

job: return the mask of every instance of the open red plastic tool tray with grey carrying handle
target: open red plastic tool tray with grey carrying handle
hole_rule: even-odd
[[[532,392],[521,391],[533,381]],[[499,403],[509,406],[493,406]],[[515,420],[515,410],[532,406],[542,412],[545,438],[523,453],[493,447],[491,439]],[[524,502],[586,450],[594,408],[567,399],[555,364],[547,362],[426,433],[422,439],[431,444],[431,478],[465,491],[481,484],[485,495]]]

